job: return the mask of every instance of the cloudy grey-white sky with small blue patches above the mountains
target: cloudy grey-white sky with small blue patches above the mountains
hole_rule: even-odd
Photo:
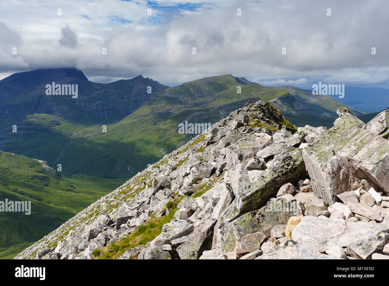
[[[94,82],[389,88],[388,12],[387,0],[1,1],[0,79],[76,67]]]

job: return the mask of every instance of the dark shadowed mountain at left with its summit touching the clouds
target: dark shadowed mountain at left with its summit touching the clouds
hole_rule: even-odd
[[[46,84],[77,84],[77,98],[72,95],[46,95]],[[0,120],[2,129],[11,129],[26,116],[50,114],[77,123],[108,123],[137,109],[151,91],[168,88],[144,78],[120,80],[107,84],[88,81],[81,70],[51,68],[12,74],[0,81]]]

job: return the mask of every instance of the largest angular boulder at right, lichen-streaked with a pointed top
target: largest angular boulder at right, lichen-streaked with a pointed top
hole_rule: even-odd
[[[361,179],[389,191],[389,141],[361,128],[361,121],[345,107],[338,110],[338,124],[303,149],[316,196],[331,205],[336,195],[361,184]]]

